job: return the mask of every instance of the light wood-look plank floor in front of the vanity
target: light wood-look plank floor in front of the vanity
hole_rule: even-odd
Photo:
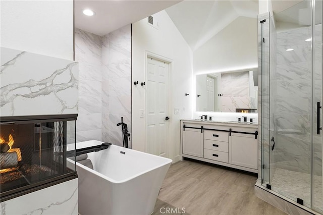
[[[165,177],[153,214],[181,214],[183,207],[186,215],[286,214],[254,195],[256,180],[256,175],[238,170],[177,162]],[[173,208],[170,213],[167,207]]]

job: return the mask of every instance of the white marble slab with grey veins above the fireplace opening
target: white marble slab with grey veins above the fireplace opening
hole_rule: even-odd
[[[78,113],[78,62],[4,47],[1,53],[2,116]]]

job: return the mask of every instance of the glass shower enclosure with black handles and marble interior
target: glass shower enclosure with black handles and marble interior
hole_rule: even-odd
[[[261,185],[323,213],[322,1],[259,23]]]

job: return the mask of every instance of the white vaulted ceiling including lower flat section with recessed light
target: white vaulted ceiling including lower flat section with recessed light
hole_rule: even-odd
[[[277,21],[308,24],[308,16],[300,14],[303,6],[298,3],[303,2],[306,1],[272,1],[274,14],[279,13]],[[298,5],[289,9],[291,13],[284,13],[285,9],[295,4]],[[238,17],[256,19],[258,8],[258,0],[75,0],[74,14],[76,28],[103,36],[166,10],[184,39],[195,50]],[[83,9],[92,9],[95,16],[84,16]]]

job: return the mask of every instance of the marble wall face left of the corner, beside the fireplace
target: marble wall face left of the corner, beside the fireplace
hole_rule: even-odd
[[[75,60],[79,62],[76,142],[102,141],[101,37],[75,29]]]

